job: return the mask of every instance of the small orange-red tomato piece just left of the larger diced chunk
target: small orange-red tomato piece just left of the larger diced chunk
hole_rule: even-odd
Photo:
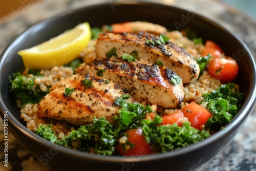
[[[184,118],[184,114],[181,110],[178,110],[172,114],[162,116],[163,122],[161,125],[177,123],[178,126],[182,126],[181,120]]]

